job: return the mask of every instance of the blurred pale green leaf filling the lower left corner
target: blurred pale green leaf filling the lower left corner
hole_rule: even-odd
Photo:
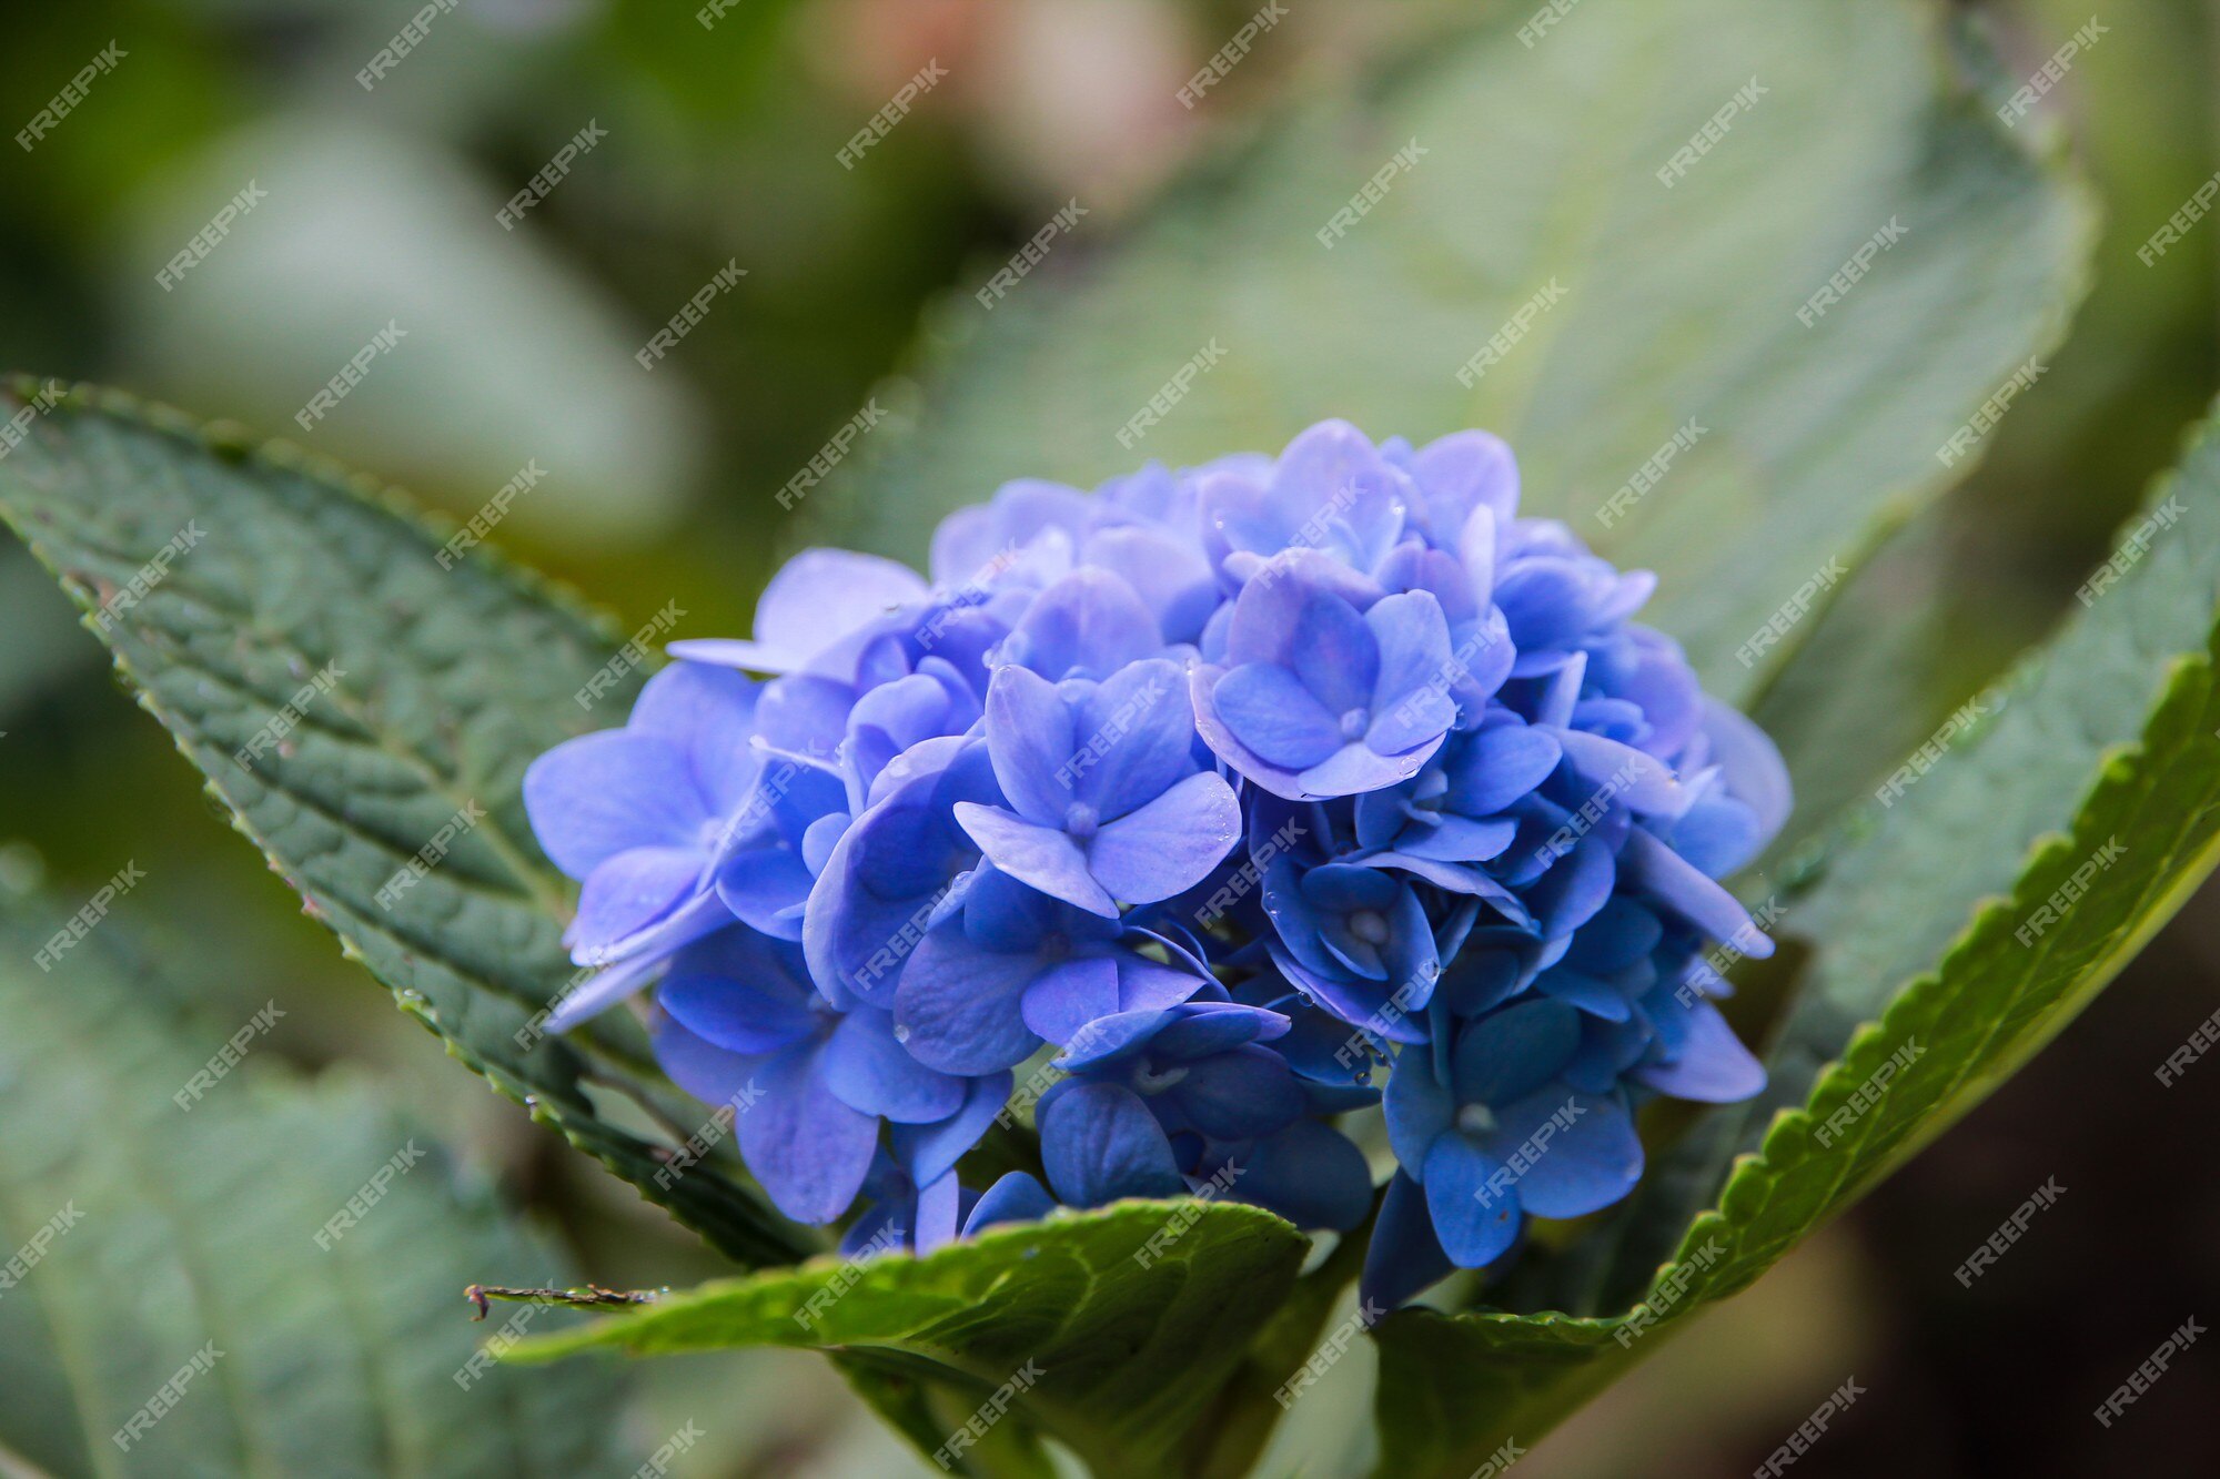
[[[69,908],[33,924],[0,899],[0,1259],[18,1259],[0,1472],[568,1479],[633,1461],[608,1372],[473,1364],[486,1328],[462,1286],[562,1272],[484,1179],[360,1079],[246,1062],[195,1097],[233,1028],[173,1010],[113,922],[33,970]],[[351,1197],[360,1219],[331,1232]]]

